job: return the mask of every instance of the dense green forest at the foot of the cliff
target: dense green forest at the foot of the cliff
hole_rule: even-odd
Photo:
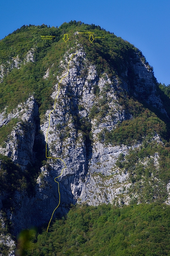
[[[22,251],[26,256],[168,256],[169,227],[165,204],[73,206],[48,233],[34,233]]]

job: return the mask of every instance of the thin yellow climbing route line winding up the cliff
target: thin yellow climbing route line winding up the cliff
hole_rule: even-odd
[[[69,62],[68,62],[68,67],[67,67],[68,72],[67,72],[66,75],[64,75],[64,77],[61,78],[61,81],[58,83],[58,93],[57,93],[57,96],[55,97],[54,108],[53,108],[53,110],[51,110],[51,112],[49,113],[49,125],[48,125],[48,129],[47,129],[47,133],[46,133],[45,156],[46,156],[46,158],[59,159],[60,161],[62,161],[62,162],[64,163],[64,166],[65,166],[64,168],[62,168],[60,175],[57,176],[57,177],[55,177],[55,179],[59,178],[59,177],[62,175],[63,170],[66,169],[66,163],[64,162],[64,160],[62,160],[62,159],[59,158],[59,157],[50,157],[50,156],[47,156],[47,141],[48,141],[48,131],[49,131],[49,127],[50,127],[50,115],[51,115],[51,113],[53,113],[53,111],[54,111],[55,108],[56,108],[56,100],[57,100],[57,98],[59,97],[59,92],[60,92],[60,83],[62,82],[62,79],[64,79],[64,78],[69,74],[69,64],[70,64],[70,61],[72,60],[73,56],[76,55],[77,53],[78,53],[78,52],[76,52],[75,54],[72,54],[72,57],[70,58],[70,60],[69,60]],[[55,179],[54,179],[54,180],[55,180]],[[58,184],[59,204],[58,204],[57,207],[54,209],[53,214],[54,214],[55,210],[56,210],[56,209],[59,207],[59,205],[60,205],[60,189],[59,189],[59,182],[56,181],[56,180],[55,180],[55,182]],[[51,219],[53,218],[53,214],[51,215]],[[50,225],[51,219],[50,219],[49,224],[48,224],[48,227],[47,227],[47,232],[48,232],[48,229],[49,229],[49,225]]]

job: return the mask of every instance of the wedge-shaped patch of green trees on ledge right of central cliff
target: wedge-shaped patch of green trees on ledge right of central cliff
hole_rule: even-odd
[[[142,141],[147,135],[153,137],[155,133],[161,135],[162,138],[166,138],[166,124],[146,109],[138,117],[119,123],[116,129],[101,131],[98,139],[106,144],[132,145],[137,141]]]

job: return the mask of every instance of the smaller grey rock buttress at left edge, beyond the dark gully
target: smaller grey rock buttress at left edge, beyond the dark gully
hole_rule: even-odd
[[[33,160],[33,145],[36,133],[38,105],[31,96],[23,105],[19,105],[14,113],[0,115],[0,126],[6,125],[11,119],[18,119],[15,129],[11,132],[1,154],[10,157],[13,162],[25,168]]]

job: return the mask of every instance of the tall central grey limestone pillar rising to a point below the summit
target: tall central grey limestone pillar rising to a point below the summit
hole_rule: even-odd
[[[77,63],[78,57],[79,63]],[[108,150],[108,148],[97,142],[97,134],[104,127],[107,127],[108,130],[112,129],[118,121],[123,121],[129,116],[125,115],[121,106],[113,103],[113,99],[116,101],[114,90],[117,82],[115,81],[114,84],[111,84],[107,75],[105,75],[105,78],[99,78],[95,67],[92,65],[89,66],[86,77],[79,77],[86,66],[85,53],[80,50],[77,56],[72,59],[69,75],[62,79],[62,88],[60,89],[56,108],[50,114],[50,127],[49,113],[51,110],[47,112],[46,120],[41,129],[46,137],[49,127],[47,144],[51,157],[62,158],[66,163],[67,168],[63,170],[62,175],[59,177],[61,186],[72,192],[74,200],[79,200],[79,202],[90,201],[90,204],[96,205],[101,202],[112,202],[113,198],[107,201],[104,193],[102,193],[101,199],[90,198],[90,194],[95,197],[96,186],[101,187],[103,183],[100,176],[95,180],[92,175],[96,173],[111,175],[111,167],[115,163],[116,157],[124,149],[112,147]],[[62,77],[65,75],[63,73]],[[90,122],[88,116],[96,103],[94,88],[99,88],[102,91],[106,83],[109,83],[111,87],[109,92],[110,102],[108,103],[110,112],[105,117],[102,117],[100,123],[95,119]],[[54,97],[55,95],[57,95],[57,91],[53,94]],[[99,100],[102,100],[102,97]],[[81,107],[78,108],[78,106]],[[78,131],[76,127],[77,121],[80,123]],[[91,126],[94,144],[91,144],[87,135],[86,137],[83,135],[83,125]],[[57,129],[57,127],[59,128]],[[66,134],[64,134],[63,128],[67,131]],[[100,161],[103,164],[107,161],[104,165],[105,167],[101,166]],[[56,172],[54,177],[60,175],[62,167],[61,161],[57,161],[57,163],[53,161],[53,169]]]

